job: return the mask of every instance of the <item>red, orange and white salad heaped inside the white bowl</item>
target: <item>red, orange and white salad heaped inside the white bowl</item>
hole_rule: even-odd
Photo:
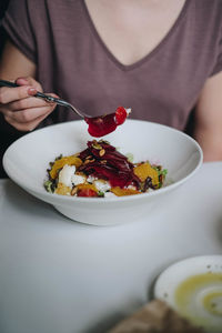
[[[44,188],[72,196],[111,198],[141,194],[162,188],[167,170],[149,161],[133,163],[104,140],[50,163]]]

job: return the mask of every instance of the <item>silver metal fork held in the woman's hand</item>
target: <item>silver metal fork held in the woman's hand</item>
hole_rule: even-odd
[[[6,81],[6,80],[0,80],[0,87],[8,87],[8,88],[17,88],[17,87],[21,87],[14,82],[10,82],[10,81]],[[40,98],[46,100],[47,102],[53,102],[57,103],[59,105],[62,105],[64,108],[69,108],[71,109],[73,112],[75,112],[79,117],[81,118],[92,118],[92,115],[89,115],[82,111],[80,111],[79,109],[77,109],[75,107],[73,107],[72,104],[70,104],[69,102],[58,99],[58,98],[53,98],[51,95],[47,95],[46,93],[42,93],[40,91],[37,92],[37,94],[34,94],[36,98]]]

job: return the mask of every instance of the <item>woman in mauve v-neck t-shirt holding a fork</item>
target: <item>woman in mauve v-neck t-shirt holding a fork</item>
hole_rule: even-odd
[[[221,0],[11,0],[3,28],[0,78],[21,85],[0,89],[10,129],[77,119],[37,90],[91,114],[131,107],[179,130],[195,107],[204,160],[222,159]]]

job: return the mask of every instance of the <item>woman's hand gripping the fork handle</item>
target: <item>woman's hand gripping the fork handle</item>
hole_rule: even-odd
[[[19,78],[18,88],[0,88],[0,112],[8,123],[19,131],[32,131],[56,108],[56,103],[34,98],[37,91],[42,92],[41,84],[34,79]],[[48,93],[56,97],[53,93]]]

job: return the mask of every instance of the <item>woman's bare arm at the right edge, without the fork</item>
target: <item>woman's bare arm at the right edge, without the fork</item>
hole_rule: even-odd
[[[222,72],[208,79],[195,114],[194,138],[203,149],[204,161],[222,160]]]

